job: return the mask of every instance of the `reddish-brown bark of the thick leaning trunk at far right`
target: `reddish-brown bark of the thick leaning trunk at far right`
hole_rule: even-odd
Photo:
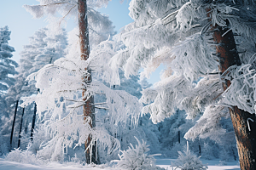
[[[236,50],[236,42],[233,36],[233,32],[228,30],[229,29],[227,27],[212,26],[213,39],[215,42],[218,43],[218,45],[216,46],[216,52],[219,57],[219,70],[222,73],[224,73],[224,71],[226,71],[231,65],[241,65],[241,60]],[[226,90],[229,86],[230,81],[225,80],[225,83],[223,84],[224,90]],[[255,170],[255,116],[247,111],[242,111],[241,109],[237,108],[237,106],[234,106],[232,109],[230,109],[230,116],[236,134],[236,144],[241,170]]]

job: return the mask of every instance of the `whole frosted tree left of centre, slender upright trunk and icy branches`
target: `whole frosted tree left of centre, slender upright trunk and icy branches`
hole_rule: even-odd
[[[89,155],[86,154],[86,161],[88,163],[91,161],[97,163],[97,160],[95,160],[97,153],[93,151],[97,148],[95,144],[102,145],[104,148],[108,146],[108,154],[119,148],[119,140],[115,139],[111,134],[109,135],[101,123],[98,123],[99,125],[94,127],[94,124],[96,124],[93,113],[94,108],[108,110],[109,124],[117,126],[120,123],[123,126],[128,125],[130,127],[134,127],[137,124],[141,105],[138,103],[136,97],[122,90],[111,90],[102,82],[91,82],[91,68],[95,72],[102,73],[102,71],[105,71],[105,73],[109,73],[110,77],[112,74],[110,69],[107,68],[108,66],[101,67],[101,65],[106,64],[104,62],[106,59],[108,63],[109,58],[106,57],[106,54],[88,59],[90,52],[88,41],[88,35],[91,31],[90,28],[93,28],[92,31],[96,32],[98,37],[102,37],[100,40],[97,40],[97,38],[93,37],[93,32],[90,34],[92,35],[91,40],[93,40],[90,41],[92,48],[94,44],[107,39],[105,35],[111,36],[113,34],[113,26],[108,21],[108,17],[99,14],[94,9],[99,7],[99,4],[107,3],[108,1],[88,2],[89,33],[86,31],[87,23],[81,21],[84,20],[81,17],[87,17],[85,10],[86,1],[78,1],[78,3],[77,1],[51,1],[47,3],[40,1],[40,5],[26,6],[36,16],[38,16],[37,14],[43,13],[53,14],[55,11],[48,13],[53,8],[57,8],[59,12],[65,12],[68,8],[66,10],[67,13],[73,13],[76,17],[79,16],[80,41],[79,43],[76,42],[73,44],[79,44],[82,51],[73,48],[73,50],[68,52],[68,59],[58,59],[53,65],[45,65],[43,69],[30,76],[31,79],[35,77],[37,88],[40,88],[40,93],[35,97],[38,103],[38,114],[42,116],[44,125],[51,138],[45,144],[45,147],[38,151],[38,154],[43,156],[47,153],[51,160],[61,160],[61,151],[66,150],[67,147],[73,147],[74,142],[77,142],[78,144],[76,145],[78,146],[84,144],[85,141],[86,153],[90,153]],[[78,4],[83,5],[78,8]],[[84,30],[82,28],[83,26]],[[84,39],[81,39],[83,37]],[[93,54],[90,55],[93,56]],[[82,61],[79,59],[79,56]],[[96,62],[101,57],[102,59]],[[99,71],[99,69],[102,69],[102,71]],[[103,79],[105,81],[106,77],[103,77]],[[113,84],[112,81],[107,80],[107,83],[110,82]],[[79,92],[83,95],[78,94]],[[95,94],[102,95],[103,101],[93,105],[92,95]],[[49,96],[51,96],[50,99]],[[29,100],[26,103],[29,103]],[[84,106],[84,115],[79,106]],[[67,125],[69,129],[65,128]]]

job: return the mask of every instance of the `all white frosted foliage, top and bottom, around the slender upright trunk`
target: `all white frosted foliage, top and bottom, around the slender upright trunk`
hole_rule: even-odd
[[[32,14],[43,14],[41,8],[45,14],[48,14],[48,10],[51,10],[52,7],[58,8],[49,14],[52,15],[55,12],[65,11],[65,8],[70,7],[68,5],[73,5],[74,7],[70,8],[70,14],[74,14],[75,17],[78,14],[77,4],[73,1],[65,2],[62,6],[56,5],[54,1],[47,2],[47,5],[44,3],[46,2],[40,1],[40,5],[26,6],[26,9],[30,10]],[[105,44],[102,42],[102,47],[98,46],[98,43],[107,39],[107,34],[113,35],[113,26],[108,17],[96,12],[96,4],[98,4],[96,1],[90,2],[88,8],[91,31],[90,48],[93,49],[90,59],[86,61],[79,59],[79,43],[76,35],[78,29],[76,29],[71,32],[72,43],[67,58],[57,59],[53,65],[45,65],[44,68],[28,77],[31,82],[36,80],[36,87],[40,88],[40,93],[34,98],[26,99],[25,105],[36,101],[38,115],[44,122],[46,135],[49,137],[49,141],[45,141],[45,145],[38,151],[38,155],[47,157],[51,161],[63,161],[65,150],[81,146],[89,135],[92,136],[92,141],[97,141],[96,144],[107,152],[107,156],[113,154],[120,147],[119,140],[116,139],[115,128],[135,127],[140,114],[141,105],[138,103],[138,99],[131,94],[127,94],[123,90],[112,90],[94,79],[90,84],[82,82],[90,75],[90,72],[84,68],[92,68],[96,75],[102,75],[102,72],[108,74],[110,71],[108,65],[105,65],[106,61],[108,63],[109,55],[108,53],[106,55],[106,51],[102,54],[102,48],[108,42]],[[109,50],[114,53],[112,48]],[[110,82],[109,78],[109,76],[102,77],[102,81],[108,80],[106,81],[108,83]],[[83,89],[86,89],[84,97],[80,95]],[[108,110],[107,123],[103,120],[98,122],[97,127],[94,128],[90,127],[90,117],[86,117],[89,122],[81,118],[83,115],[80,106],[83,106],[84,100],[89,99],[91,95],[100,96],[99,102],[95,104],[96,109]],[[104,119],[102,116],[99,117]],[[67,127],[67,124],[72,128]],[[106,124],[111,125],[110,129],[106,128]],[[91,148],[85,149],[91,150]]]

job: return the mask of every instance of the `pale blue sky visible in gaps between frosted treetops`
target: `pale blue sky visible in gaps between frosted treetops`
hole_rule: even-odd
[[[101,8],[99,11],[107,14],[109,19],[113,21],[115,30],[119,30],[131,23],[133,20],[129,14],[130,0],[120,3],[120,0],[112,0],[108,3],[107,8]],[[32,15],[26,12],[22,5],[38,4],[36,0],[0,0],[0,27],[9,26],[11,31],[11,40],[9,45],[15,48],[14,59],[19,62],[19,53],[23,49],[23,45],[29,44],[28,37],[31,37],[39,28],[47,26],[47,22],[43,19],[34,20]],[[67,31],[73,30],[73,20],[67,21]],[[148,82],[153,83],[159,79],[159,70],[156,71]]]

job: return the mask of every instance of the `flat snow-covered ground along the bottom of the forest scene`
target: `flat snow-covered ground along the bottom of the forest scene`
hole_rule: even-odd
[[[170,162],[175,161],[172,159],[158,159],[156,161],[156,164],[160,167],[165,167],[167,170],[172,170],[172,167],[170,167]],[[201,160],[204,164],[208,165],[209,170],[240,170],[240,167],[238,165],[238,161],[228,161],[228,162],[221,162],[218,160],[215,161],[208,161],[208,160]],[[222,165],[221,165],[222,164]],[[0,158],[0,169],[1,170],[37,170],[37,169],[68,169],[68,170],[81,170],[81,169],[92,169],[92,170],[114,170],[114,168],[106,167],[105,165],[97,166],[97,167],[91,167],[91,166],[81,166],[78,164],[74,164],[72,162],[67,164],[60,164],[58,162],[51,162],[47,166],[36,166],[31,164],[24,164],[19,163],[15,161],[4,161],[2,158]]]

